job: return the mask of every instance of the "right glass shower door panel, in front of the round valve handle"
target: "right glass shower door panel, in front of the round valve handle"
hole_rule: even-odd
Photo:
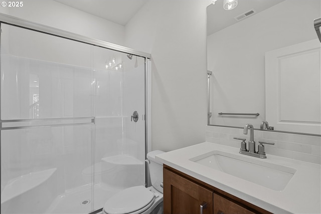
[[[94,47],[93,70],[99,209],[119,190],[145,183],[145,58]]]

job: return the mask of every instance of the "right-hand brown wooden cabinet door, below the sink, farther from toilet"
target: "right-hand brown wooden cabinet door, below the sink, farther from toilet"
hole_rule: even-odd
[[[255,212],[216,193],[213,194],[213,208],[214,214],[255,214]]]

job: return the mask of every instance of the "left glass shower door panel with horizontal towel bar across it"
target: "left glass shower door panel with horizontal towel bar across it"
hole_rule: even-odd
[[[88,213],[92,46],[1,27],[1,213]]]

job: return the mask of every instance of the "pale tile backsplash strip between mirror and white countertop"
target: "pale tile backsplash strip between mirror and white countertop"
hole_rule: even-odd
[[[246,142],[249,140],[249,134],[243,134],[241,128],[206,126],[207,142],[240,148],[241,141],[233,137],[246,138]],[[274,143],[274,145],[264,145],[267,155],[321,164],[321,137],[319,136],[254,130],[254,141],[256,145],[258,141]]]

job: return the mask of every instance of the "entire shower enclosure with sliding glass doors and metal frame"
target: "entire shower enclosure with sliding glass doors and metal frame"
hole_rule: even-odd
[[[0,20],[1,213],[90,213],[145,185],[148,54]]]

